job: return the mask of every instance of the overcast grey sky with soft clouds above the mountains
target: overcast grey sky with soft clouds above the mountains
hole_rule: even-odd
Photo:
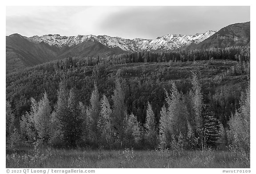
[[[156,39],[194,35],[250,21],[249,6],[6,7],[6,35],[109,35]]]

